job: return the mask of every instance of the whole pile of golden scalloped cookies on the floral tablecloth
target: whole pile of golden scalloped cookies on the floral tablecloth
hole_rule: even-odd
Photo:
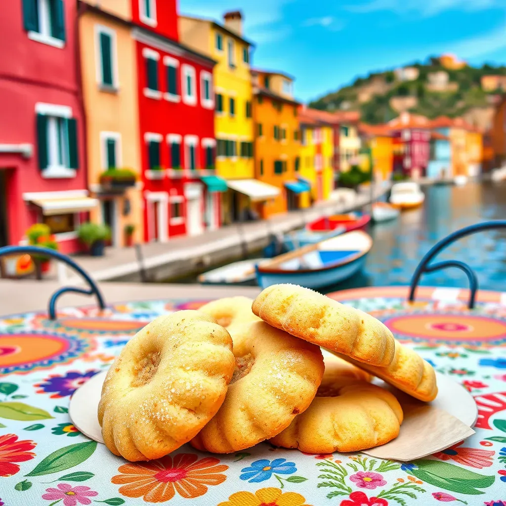
[[[321,348],[333,355],[323,359]],[[102,389],[109,450],[159,458],[188,441],[215,453],[269,440],[308,453],[358,451],[399,434],[397,398],[437,395],[432,366],[372,316],[296,285],[161,316],[125,345]]]

